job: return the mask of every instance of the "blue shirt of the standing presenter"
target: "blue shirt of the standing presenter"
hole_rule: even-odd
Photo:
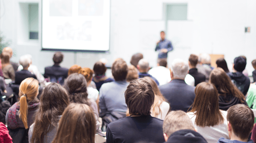
[[[168,52],[174,50],[171,41],[164,39],[164,40],[160,40],[160,42],[156,45],[156,51],[157,50],[161,50],[161,49],[167,49]],[[167,58],[167,53],[164,52],[159,52],[158,54],[158,58]]]

